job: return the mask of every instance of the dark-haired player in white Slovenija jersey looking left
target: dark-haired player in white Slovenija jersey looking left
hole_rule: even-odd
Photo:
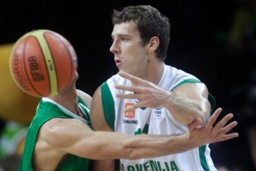
[[[207,123],[215,106],[207,86],[193,75],[164,64],[169,44],[168,18],[151,6],[128,6],[120,12],[114,10],[112,22],[110,51],[121,72],[93,95],[93,130],[127,135],[179,135],[186,133],[195,120]],[[177,148],[184,146],[178,143]],[[113,170],[114,161],[97,161],[95,167]],[[216,170],[208,144],[158,158],[121,157],[119,169]]]

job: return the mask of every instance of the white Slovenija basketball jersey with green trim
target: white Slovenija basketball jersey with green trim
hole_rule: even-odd
[[[165,90],[172,91],[184,83],[199,83],[200,81],[182,70],[164,65],[164,72],[158,84]],[[115,85],[130,85],[130,81],[118,74],[109,78],[101,86],[103,111],[106,122],[114,131],[127,135],[140,133],[150,135],[178,135],[185,133],[187,127],[177,122],[166,108],[140,108],[124,113],[124,109],[135,104],[135,99],[116,98],[117,93],[130,93],[116,90]],[[127,160],[120,159],[120,170],[216,170],[210,157],[210,148],[201,146],[190,151],[171,154],[151,159]]]

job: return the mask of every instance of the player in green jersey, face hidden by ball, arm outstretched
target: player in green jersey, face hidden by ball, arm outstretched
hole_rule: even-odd
[[[229,114],[212,128],[220,109],[206,127],[202,120],[189,125],[189,131],[177,136],[127,136],[121,133],[92,131],[89,118],[91,97],[72,84],[57,96],[42,98],[28,130],[19,170],[92,170],[89,159],[138,159],[156,157],[205,143],[233,138],[226,133],[236,123],[223,127]]]

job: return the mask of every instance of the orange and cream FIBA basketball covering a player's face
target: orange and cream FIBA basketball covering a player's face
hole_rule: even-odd
[[[51,30],[35,30],[14,44],[9,68],[15,83],[26,93],[55,96],[70,85],[77,56],[63,36]]]

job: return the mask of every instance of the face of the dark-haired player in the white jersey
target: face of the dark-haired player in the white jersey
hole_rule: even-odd
[[[119,70],[140,75],[147,69],[147,46],[143,46],[140,32],[134,22],[114,25],[113,44],[109,49]]]

